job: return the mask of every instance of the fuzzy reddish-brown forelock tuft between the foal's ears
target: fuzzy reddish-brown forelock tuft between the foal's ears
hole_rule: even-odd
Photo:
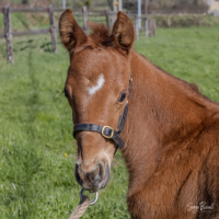
[[[106,47],[113,46],[114,36],[108,26],[93,22],[89,22],[89,26],[92,30],[90,37],[96,45],[103,45]]]

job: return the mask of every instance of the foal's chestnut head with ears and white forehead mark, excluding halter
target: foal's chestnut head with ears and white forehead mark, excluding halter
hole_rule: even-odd
[[[91,25],[87,36],[70,10],[59,21],[61,41],[70,55],[65,94],[74,124],[96,124],[117,128],[126,105],[129,85],[129,51],[134,44],[130,19],[119,12],[113,32]],[[110,180],[115,143],[99,132],[78,131],[76,178],[85,189],[99,189]]]

